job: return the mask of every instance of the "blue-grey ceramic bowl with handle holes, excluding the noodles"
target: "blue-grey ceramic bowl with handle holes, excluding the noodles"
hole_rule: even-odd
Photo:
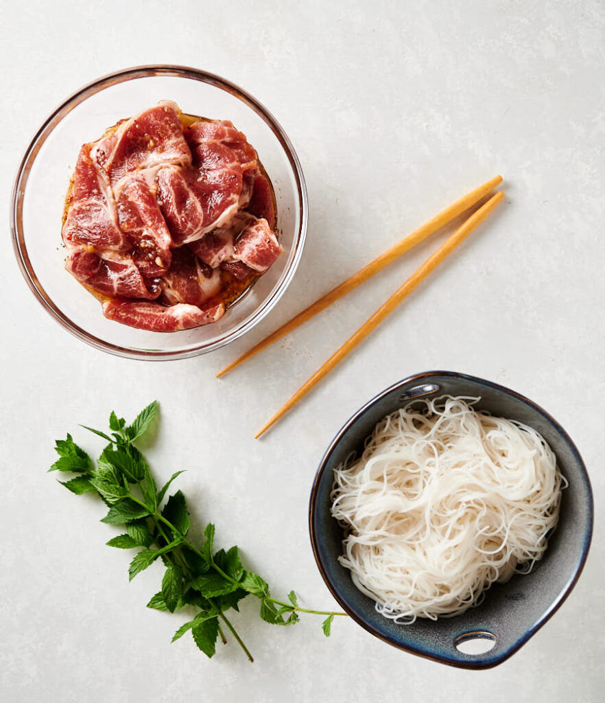
[[[332,472],[385,415],[419,397],[481,396],[476,406],[493,415],[519,420],[538,430],[557,455],[569,482],[561,500],[559,525],[533,572],[517,574],[508,583],[490,588],[477,607],[452,618],[418,619],[398,625],[375,611],[341,567],[343,531],[330,514]],[[592,537],[592,491],[586,469],[563,427],[531,400],[490,381],[449,371],[428,371],[387,388],[360,409],[340,430],[323,457],[309,506],[311,544],[327,587],[341,607],[368,632],[402,650],[465,669],[487,669],[510,657],[554,614],[583,569]],[[493,647],[483,654],[465,654],[466,640],[484,638]],[[457,646],[458,645],[458,646]]]

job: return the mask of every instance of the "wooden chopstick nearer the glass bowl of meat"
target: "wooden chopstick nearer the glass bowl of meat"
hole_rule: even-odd
[[[219,373],[216,374],[216,378],[220,378],[231,369],[236,366],[240,366],[240,363],[251,359],[252,356],[255,356],[259,352],[262,352],[263,349],[269,347],[273,344],[273,342],[277,342],[277,340],[285,337],[285,335],[292,332],[292,330],[295,330],[299,327],[299,325],[302,325],[322,310],[325,310],[334,301],[353,290],[353,288],[357,288],[358,285],[374,276],[375,273],[382,271],[385,266],[388,266],[395,261],[395,259],[401,257],[402,254],[405,254],[405,252],[408,252],[412,249],[412,247],[415,247],[417,244],[422,242],[422,240],[431,236],[431,234],[435,233],[438,229],[441,229],[441,227],[448,224],[448,222],[452,221],[459,214],[462,214],[464,210],[467,210],[469,207],[475,205],[479,202],[479,200],[481,200],[481,198],[483,198],[484,195],[491,193],[491,191],[493,191],[499,183],[502,183],[502,176],[494,176],[493,179],[486,181],[486,183],[483,183],[483,185],[479,186],[479,188],[475,188],[474,191],[463,195],[460,200],[456,200],[456,202],[452,205],[446,207],[433,219],[430,219],[428,222],[417,228],[417,230],[413,231],[410,235],[396,243],[396,245],[393,245],[390,249],[386,250],[386,252],[380,254],[379,257],[367,264],[367,266],[364,266],[363,269],[360,269],[357,273],[353,273],[353,276],[344,280],[340,285],[337,285],[336,288],[332,288],[330,292],[327,292],[325,295],[320,297],[320,299],[315,300],[314,303],[311,303],[309,307],[299,312],[299,314],[287,321],[280,328],[275,330],[275,332],[272,332],[270,335],[265,337],[264,340],[261,340],[258,344],[255,344],[252,349],[248,349],[248,351],[242,354],[242,356],[238,357],[238,359],[235,359],[235,361],[232,361],[228,366],[220,370]]]

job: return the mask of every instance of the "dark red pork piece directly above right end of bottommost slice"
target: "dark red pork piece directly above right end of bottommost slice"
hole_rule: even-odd
[[[200,262],[188,247],[181,247],[174,250],[172,264],[160,285],[162,302],[169,305],[186,303],[199,306],[219,294],[221,273],[218,269],[213,271]]]

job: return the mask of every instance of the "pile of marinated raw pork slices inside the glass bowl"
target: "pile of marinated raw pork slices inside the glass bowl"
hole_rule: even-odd
[[[80,150],[65,267],[110,320],[176,332],[219,320],[282,247],[256,151],[225,120],[164,101]]]

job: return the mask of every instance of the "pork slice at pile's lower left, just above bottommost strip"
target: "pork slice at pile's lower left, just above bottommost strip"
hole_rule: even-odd
[[[141,272],[129,259],[101,259],[94,252],[73,250],[67,255],[65,268],[82,283],[110,297],[152,300],[160,295],[157,286],[148,290]]]

